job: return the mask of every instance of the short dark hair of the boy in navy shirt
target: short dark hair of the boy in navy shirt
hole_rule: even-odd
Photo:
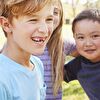
[[[72,22],[73,33],[75,31],[75,24],[78,21],[81,21],[84,19],[98,21],[98,23],[100,23],[100,9],[87,9],[87,10],[83,10],[81,13],[79,13]]]

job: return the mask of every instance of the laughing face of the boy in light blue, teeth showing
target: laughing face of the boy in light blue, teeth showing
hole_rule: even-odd
[[[14,18],[10,29],[10,39],[19,50],[33,55],[43,53],[53,32],[53,7],[47,5],[33,16]]]

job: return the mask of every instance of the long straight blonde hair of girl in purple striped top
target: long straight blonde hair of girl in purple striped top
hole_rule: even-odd
[[[53,81],[53,93],[57,94],[58,89],[62,85],[63,80],[63,66],[64,66],[64,54],[63,54],[63,40],[62,40],[62,24],[63,24],[63,8],[60,0],[56,0],[56,3],[60,6],[60,23],[54,30],[47,46],[52,62],[52,81]],[[56,4],[55,3],[55,4]]]

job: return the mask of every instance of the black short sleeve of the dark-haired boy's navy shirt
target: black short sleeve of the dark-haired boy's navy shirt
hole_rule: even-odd
[[[76,57],[64,65],[64,81],[70,82],[77,79],[77,74],[81,69],[80,57]]]

